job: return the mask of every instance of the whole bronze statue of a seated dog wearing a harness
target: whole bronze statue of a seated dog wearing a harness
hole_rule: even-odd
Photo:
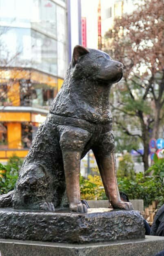
[[[38,128],[16,187],[0,196],[0,207],[55,210],[64,205],[66,189],[70,210],[86,213],[80,201],[80,160],[92,149],[113,208],[133,209],[121,201],[117,187],[109,105],[111,85],[122,75],[123,65],[108,54],[75,46],[62,88]]]

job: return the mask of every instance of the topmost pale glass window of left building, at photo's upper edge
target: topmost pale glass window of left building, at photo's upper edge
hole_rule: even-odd
[[[50,0],[33,0],[31,25],[56,36],[56,4]]]

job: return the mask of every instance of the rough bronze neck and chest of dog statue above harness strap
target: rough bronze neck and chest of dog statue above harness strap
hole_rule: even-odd
[[[94,89],[94,88],[93,88]],[[83,119],[91,123],[109,123],[112,120],[108,90],[87,88],[62,89],[54,99],[50,112],[55,115]]]

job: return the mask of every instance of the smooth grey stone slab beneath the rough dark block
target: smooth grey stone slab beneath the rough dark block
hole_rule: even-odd
[[[0,239],[1,256],[154,256],[164,249],[164,237],[68,245]]]

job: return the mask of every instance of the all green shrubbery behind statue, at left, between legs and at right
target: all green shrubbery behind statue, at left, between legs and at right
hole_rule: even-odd
[[[18,171],[23,160],[17,156],[9,158],[7,165],[0,164],[0,194],[13,190],[18,179]],[[158,207],[164,203],[164,158],[158,159],[155,155],[154,165],[146,174],[136,174],[135,178],[118,177],[117,183],[120,191],[128,194],[130,199],[143,199],[144,206],[156,200]],[[133,176],[132,176],[133,177]],[[99,175],[89,175],[87,179],[80,176],[81,198],[86,200],[105,200],[106,195]]]

